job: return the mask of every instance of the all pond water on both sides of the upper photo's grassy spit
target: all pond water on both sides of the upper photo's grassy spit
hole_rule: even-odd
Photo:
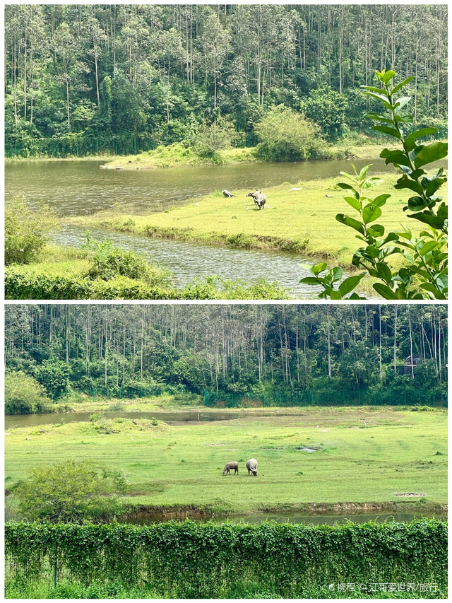
[[[129,213],[163,211],[227,188],[255,189],[296,184],[300,180],[337,177],[350,170],[348,160],[304,161],[299,163],[237,163],[232,165],[189,166],[156,170],[102,170],[102,160],[30,161],[6,163],[6,197],[23,193],[32,206],[44,202],[61,217],[117,208]],[[357,168],[369,160],[355,160]],[[373,170],[388,168],[383,160],[373,160]],[[53,242],[71,247],[81,245],[85,229],[64,226],[54,233]],[[234,250],[190,242],[140,237],[128,233],[91,230],[98,240],[144,254],[172,271],[174,284],[185,286],[194,278],[215,275],[254,283],[258,279],[278,282],[295,298],[314,298],[316,288],[299,281],[308,276],[302,263],[314,263],[299,253]]]

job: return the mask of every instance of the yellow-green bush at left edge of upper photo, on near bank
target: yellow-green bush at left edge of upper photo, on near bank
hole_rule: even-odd
[[[57,226],[52,211],[41,206],[32,211],[22,196],[5,201],[5,265],[29,264]]]

